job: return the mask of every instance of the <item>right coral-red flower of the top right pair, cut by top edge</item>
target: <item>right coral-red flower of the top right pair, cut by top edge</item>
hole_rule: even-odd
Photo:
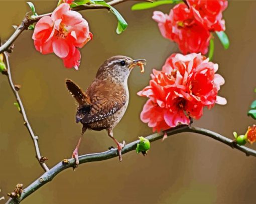
[[[225,30],[222,12],[227,8],[226,0],[189,0],[187,3],[192,9],[195,19],[210,32]]]

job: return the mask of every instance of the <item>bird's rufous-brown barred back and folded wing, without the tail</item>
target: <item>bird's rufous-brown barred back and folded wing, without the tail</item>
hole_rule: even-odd
[[[85,114],[82,123],[103,120],[120,110],[126,101],[124,88],[107,81],[95,80],[86,93],[91,99],[91,110]]]

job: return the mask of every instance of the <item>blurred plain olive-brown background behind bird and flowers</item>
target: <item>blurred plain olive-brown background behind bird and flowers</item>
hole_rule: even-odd
[[[76,106],[65,88],[65,78],[86,89],[101,63],[111,56],[148,61],[144,74],[135,69],[130,75],[130,104],[114,129],[115,137],[129,143],[152,133],[139,118],[146,99],[136,93],[148,84],[153,68],[161,69],[168,56],[179,52],[176,44],[161,36],[152,20],[153,11],[169,13],[173,6],[133,12],[132,4],[116,6],[129,23],[121,35],[115,33],[117,21],[107,11],[81,12],[94,39],[81,50],[79,71],[64,68],[54,54],[37,52],[31,31],[22,33],[15,42],[10,57],[13,80],[22,86],[19,93],[50,167],[71,156],[81,131],[81,125],[75,123]],[[34,5],[38,14],[44,14],[52,12],[57,1],[34,1]],[[224,50],[215,39],[213,57],[213,62],[219,64],[218,73],[226,80],[219,95],[226,97],[228,104],[204,110],[203,117],[193,124],[231,139],[233,131],[245,133],[254,123],[246,112],[256,98],[255,9],[255,1],[229,1],[224,19],[230,47]],[[12,25],[19,25],[28,11],[25,1],[0,2],[2,40],[8,39],[14,32]],[[43,170],[3,75],[0,94],[0,197],[8,199],[7,193],[17,183],[27,186]],[[106,131],[87,131],[79,153],[101,152],[111,145]],[[248,146],[256,148],[256,144]],[[184,133],[153,142],[146,157],[133,151],[123,155],[122,162],[112,158],[82,164],[75,172],[67,169],[23,203],[255,203],[255,171],[255,157],[206,136]]]

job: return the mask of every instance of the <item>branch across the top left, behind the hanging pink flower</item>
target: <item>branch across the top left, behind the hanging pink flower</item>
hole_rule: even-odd
[[[111,2],[108,2],[107,4],[110,6],[114,6],[117,4],[121,4],[123,2],[127,2],[129,0],[113,0]],[[152,2],[151,0],[132,0],[132,1],[141,1],[141,2]],[[82,10],[89,10],[89,9],[107,9],[108,7],[103,5],[96,5],[96,4],[90,4],[90,5],[80,5],[75,8],[73,8],[73,11],[82,11]],[[51,16],[52,13],[43,14],[40,16],[37,16],[35,18],[31,18],[26,15],[26,17],[23,19],[21,25],[16,29],[16,31],[13,33],[13,35],[0,47],[0,54],[7,51],[11,53],[13,51],[13,48],[11,47],[14,41],[21,35],[21,33],[25,30],[28,30],[29,26],[38,22],[41,18],[45,16]]]

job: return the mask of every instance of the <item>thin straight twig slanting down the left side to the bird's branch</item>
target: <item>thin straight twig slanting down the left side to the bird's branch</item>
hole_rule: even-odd
[[[30,133],[30,136],[31,138],[33,139],[33,142],[34,142],[34,146],[35,146],[35,150],[36,150],[36,158],[37,160],[39,161],[40,165],[42,166],[42,168],[45,170],[45,171],[48,171],[49,168],[47,167],[47,165],[45,164],[44,160],[46,159],[46,157],[43,157],[41,156],[40,154],[40,150],[39,150],[39,146],[38,146],[38,136],[36,136],[32,130],[32,127],[29,123],[29,120],[27,118],[27,115],[26,115],[26,112],[25,112],[25,109],[24,109],[24,106],[22,104],[22,101],[21,101],[21,98],[20,98],[20,95],[18,93],[20,87],[17,86],[17,85],[14,85],[13,83],[13,80],[12,80],[12,74],[11,74],[11,68],[10,68],[10,64],[9,64],[9,56],[6,52],[4,52],[4,55],[5,55],[5,60],[6,60],[6,65],[7,65],[7,72],[4,72],[5,75],[7,75],[8,77],[8,82],[13,90],[13,93],[16,97],[16,100],[20,106],[20,113],[22,114],[22,117],[23,117],[23,120],[24,120],[24,125],[27,127],[29,133]]]

